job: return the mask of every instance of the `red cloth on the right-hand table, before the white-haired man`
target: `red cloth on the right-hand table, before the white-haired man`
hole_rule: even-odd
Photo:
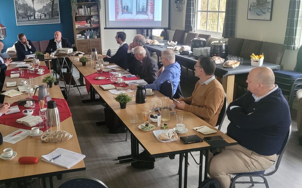
[[[95,79],[98,76],[104,76],[105,79],[104,80],[97,80]],[[126,84],[124,84],[124,86],[120,86],[120,84],[112,82],[110,80],[107,80],[107,78],[110,78],[109,76],[109,72],[102,72],[102,73],[92,73],[88,76],[85,76],[85,83],[86,83],[86,89],[87,92],[89,93],[89,89],[90,89],[90,85],[91,84],[98,84],[98,85],[106,85],[106,84],[113,84],[116,87],[127,87]],[[130,78],[126,78],[126,76],[121,77],[124,80],[139,80],[137,77],[130,77]]]

